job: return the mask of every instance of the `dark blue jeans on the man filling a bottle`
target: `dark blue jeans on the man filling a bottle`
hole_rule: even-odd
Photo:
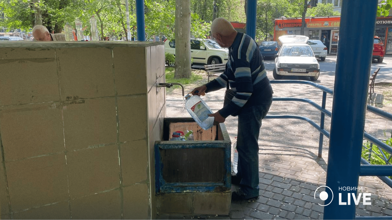
[[[249,106],[240,110],[238,115],[237,176],[241,178],[240,188],[247,197],[259,195],[259,144],[261,120],[267,115],[272,104]]]

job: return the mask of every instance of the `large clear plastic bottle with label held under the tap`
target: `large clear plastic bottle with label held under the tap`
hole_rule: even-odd
[[[199,96],[192,96],[191,94],[187,94],[185,99],[185,108],[196,123],[204,130],[211,128],[214,125],[214,117],[208,116],[208,114],[212,114],[212,111],[207,103]]]

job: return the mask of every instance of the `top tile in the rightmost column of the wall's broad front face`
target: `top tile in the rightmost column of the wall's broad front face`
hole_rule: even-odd
[[[117,94],[147,93],[145,47],[115,47],[113,54]]]

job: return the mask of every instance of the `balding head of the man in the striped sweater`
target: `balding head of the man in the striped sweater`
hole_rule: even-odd
[[[211,34],[221,47],[230,47],[237,36],[237,31],[227,19],[215,18],[211,23]]]

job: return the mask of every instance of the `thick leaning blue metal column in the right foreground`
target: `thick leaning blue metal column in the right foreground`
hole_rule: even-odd
[[[331,202],[326,190],[324,204],[331,203],[324,207],[325,220],[355,218],[354,200],[339,205],[339,193],[341,202],[347,202],[347,193],[357,195],[376,11],[377,0],[343,1],[326,183],[334,197]]]

